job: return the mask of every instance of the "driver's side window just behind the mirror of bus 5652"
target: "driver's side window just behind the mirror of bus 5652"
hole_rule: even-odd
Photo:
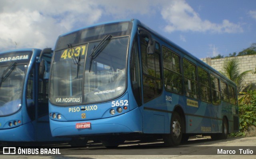
[[[141,38],[140,51],[143,70],[144,102],[153,99],[162,92],[160,74],[160,44],[156,42],[154,54],[147,54],[148,38]]]

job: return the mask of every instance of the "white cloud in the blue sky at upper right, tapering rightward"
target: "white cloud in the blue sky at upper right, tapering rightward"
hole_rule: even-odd
[[[215,24],[209,20],[202,20],[200,15],[194,11],[184,0],[170,1],[169,5],[163,7],[162,17],[168,23],[166,32],[193,31],[193,32],[217,32],[237,33],[243,32],[239,24],[223,20],[221,24]]]

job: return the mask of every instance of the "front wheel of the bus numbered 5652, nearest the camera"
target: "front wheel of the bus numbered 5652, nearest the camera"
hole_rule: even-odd
[[[164,144],[166,146],[178,146],[182,139],[183,124],[180,115],[177,112],[172,113],[170,123],[170,133],[164,134]]]

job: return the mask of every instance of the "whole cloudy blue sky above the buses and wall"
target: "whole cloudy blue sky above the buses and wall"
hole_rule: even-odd
[[[198,58],[256,43],[256,0],[1,0],[0,52],[54,48],[66,32],[132,18]]]

